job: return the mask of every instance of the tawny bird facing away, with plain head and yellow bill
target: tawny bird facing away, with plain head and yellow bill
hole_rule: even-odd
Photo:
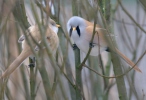
[[[60,27],[60,25],[56,24],[56,22],[52,20],[51,18],[48,18],[48,20],[44,18],[43,22],[44,22],[44,25],[47,25],[47,22],[48,22],[48,25],[45,31],[45,39],[47,39],[47,44],[50,46],[52,53],[55,54],[59,46],[59,38],[57,36],[57,33],[58,33],[58,27]],[[35,40],[38,44],[40,44],[42,40],[38,24],[30,26],[28,30],[26,31],[26,33],[27,33],[26,36],[28,37],[30,43],[32,44],[31,45],[32,48],[35,51],[38,51],[39,50],[38,46],[34,42]],[[9,76],[18,66],[20,66],[23,63],[23,61],[27,57],[33,54],[33,51],[31,50],[31,47],[29,46],[25,35],[20,36],[20,38],[18,39],[18,42],[22,43],[22,51],[20,55],[9,65],[9,67],[0,76],[0,79]]]

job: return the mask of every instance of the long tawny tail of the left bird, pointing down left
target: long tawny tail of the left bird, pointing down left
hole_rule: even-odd
[[[17,67],[19,67],[22,62],[32,54],[32,51],[29,50],[23,50],[21,54],[11,63],[11,65],[6,69],[6,71],[0,76],[1,78],[5,78],[9,76]]]

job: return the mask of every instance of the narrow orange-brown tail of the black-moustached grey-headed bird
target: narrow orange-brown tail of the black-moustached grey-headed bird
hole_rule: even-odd
[[[124,54],[122,54],[118,49],[116,49],[116,53],[120,55],[129,65],[130,67],[134,67],[133,69],[141,72],[137,65],[135,65],[129,58],[127,58]]]

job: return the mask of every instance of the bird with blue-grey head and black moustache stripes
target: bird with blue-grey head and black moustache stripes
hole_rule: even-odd
[[[111,52],[108,42],[105,37],[105,29],[100,27],[98,24],[95,26],[95,35],[91,42],[93,35],[94,24],[81,18],[79,16],[72,16],[67,22],[67,31],[71,39],[74,41],[76,46],[87,54],[90,47],[92,47],[90,55],[98,56],[103,51]],[[130,67],[134,67],[134,70],[142,72],[135,63],[133,63],[128,57],[122,52],[115,48],[116,54],[123,58]]]

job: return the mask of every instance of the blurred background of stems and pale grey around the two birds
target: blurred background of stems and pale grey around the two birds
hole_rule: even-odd
[[[110,10],[105,9],[107,6]],[[96,9],[96,14],[95,8],[109,13],[110,34],[117,48],[135,63],[144,55],[145,0],[0,0],[0,74],[20,54],[22,48],[17,42],[18,38],[29,25],[37,23],[37,18],[48,15],[61,25],[58,32],[60,45],[55,61],[58,66],[54,68],[46,58],[45,64],[40,62],[42,70],[36,65],[31,72],[26,59],[9,78],[0,80],[0,100],[76,100],[75,57],[71,46],[74,41],[69,39],[66,29],[68,19],[74,15],[73,8],[78,11],[78,16],[90,22],[94,22],[97,16],[97,23],[103,27],[104,16],[99,9]],[[23,20],[23,17],[27,20]],[[81,61],[85,56],[83,52],[80,53]],[[104,68],[99,66],[98,57],[89,56],[86,64],[100,74],[115,76],[110,54],[102,52],[101,56]],[[123,73],[129,69],[122,59],[120,64]],[[137,65],[142,73],[131,70],[124,75],[128,100],[146,100],[146,56]],[[33,78],[30,78],[31,73]],[[101,77],[83,67],[81,85],[78,91],[83,100],[119,100],[115,78]]]

